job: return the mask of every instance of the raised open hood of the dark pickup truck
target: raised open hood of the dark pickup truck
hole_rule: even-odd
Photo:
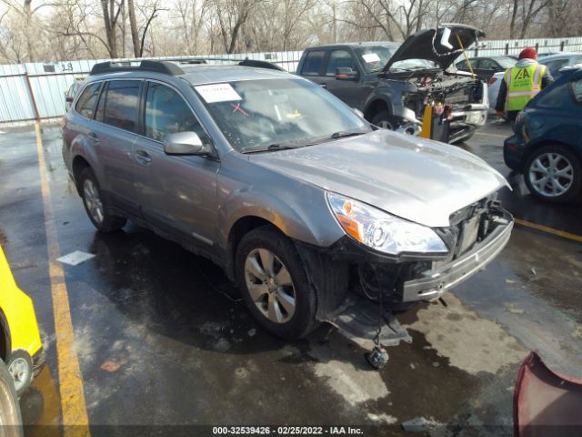
[[[450,30],[448,44],[452,48],[441,44],[443,35],[448,32],[446,29]],[[426,59],[437,63],[443,70],[446,70],[463,53],[458,44],[457,35],[460,37],[463,47],[467,49],[479,37],[485,36],[485,33],[470,25],[443,25],[437,29],[421,30],[406,38],[396,53],[388,59],[383,71],[387,72],[395,62],[406,59]]]

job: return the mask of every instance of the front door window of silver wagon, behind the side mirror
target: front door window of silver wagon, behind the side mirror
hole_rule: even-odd
[[[146,137],[164,141],[168,134],[195,132],[206,137],[206,132],[176,90],[150,82],[146,96]]]

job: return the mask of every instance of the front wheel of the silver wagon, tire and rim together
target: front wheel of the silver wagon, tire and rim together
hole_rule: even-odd
[[[246,306],[266,331],[300,339],[316,329],[316,294],[290,239],[270,226],[251,230],[236,248],[235,269]]]

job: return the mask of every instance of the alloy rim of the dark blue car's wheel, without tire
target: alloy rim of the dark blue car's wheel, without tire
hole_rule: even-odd
[[[567,192],[574,182],[574,168],[566,157],[548,152],[537,157],[529,167],[532,187],[542,196],[555,198]]]

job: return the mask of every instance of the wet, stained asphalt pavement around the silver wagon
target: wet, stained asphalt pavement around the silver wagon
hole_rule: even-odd
[[[507,125],[489,124],[461,147],[508,178],[514,190],[501,198],[517,218],[582,235],[579,205],[539,202],[510,174],[507,135]],[[329,326],[306,340],[268,335],[210,261],[131,223],[97,233],[66,174],[59,129],[45,127],[42,138],[60,254],[95,254],[64,266],[93,435],[196,424],[352,425],[400,435],[400,423],[416,417],[441,424],[435,436],[512,435],[513,385],[527,351],[582,377],[577,241],[517,226],[485,271],[447,295],[447,307],[423,303],[398,316],[413,342],[389,348],[386,368],[373,371],[364,351]],[[68,400],[59,398],[34,129],[0,135],[0,187],[0,243],[35,301],[45,346],[21,400],[26,435],[58,435],[47,425],[61,422]]]

